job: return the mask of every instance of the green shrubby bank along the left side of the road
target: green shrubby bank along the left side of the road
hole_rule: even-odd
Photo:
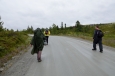
[[[0,32],[0,66],[26,48],[29,37],[22,32]]]

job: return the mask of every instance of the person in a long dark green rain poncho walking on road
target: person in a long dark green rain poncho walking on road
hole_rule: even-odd
[[[31,45],[33,45],[33,49],[31,51],[31,54],[35,54],[37,53],[37,60],[38,62],[41,62],[41,53],[42,53],[42,50],[43,50],[43,47],[44,47],[44,39],[45,36],[44,34],[42,33],[42,31],[40,30],[40,28],[37,28],[35,31],[34,31],[34,36],[31,40]]]

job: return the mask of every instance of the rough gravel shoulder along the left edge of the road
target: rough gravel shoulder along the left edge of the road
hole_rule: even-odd
[[[24,76],[33,60],[30,53],[31,49],[31,47],[28,47],[27,52],[20,52],[12,60],[9,60],[3,68],[4,70],[0,73],[0,76]]]

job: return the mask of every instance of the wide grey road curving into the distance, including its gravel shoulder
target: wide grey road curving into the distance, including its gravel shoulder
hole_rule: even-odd
[[[115,49],[92,51],[92,42],[71,37],[50,36],[42,62],[29,51],[0,76],[115,76]]]

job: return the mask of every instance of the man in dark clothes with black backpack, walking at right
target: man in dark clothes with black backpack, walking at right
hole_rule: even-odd
[[[95,26],[94,36],[93,36],[93,49],[96,49],[96,44],[99,44],[100,52],[103,53],[102,37],[104,36],[103,32],[99,29],[99,26]]]

